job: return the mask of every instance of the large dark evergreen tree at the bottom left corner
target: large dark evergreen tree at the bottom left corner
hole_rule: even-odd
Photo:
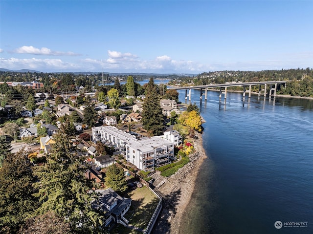
[[[27,154],[7,154],[0,169],[0,233],[16,233],[28,215],[38,207]]]

